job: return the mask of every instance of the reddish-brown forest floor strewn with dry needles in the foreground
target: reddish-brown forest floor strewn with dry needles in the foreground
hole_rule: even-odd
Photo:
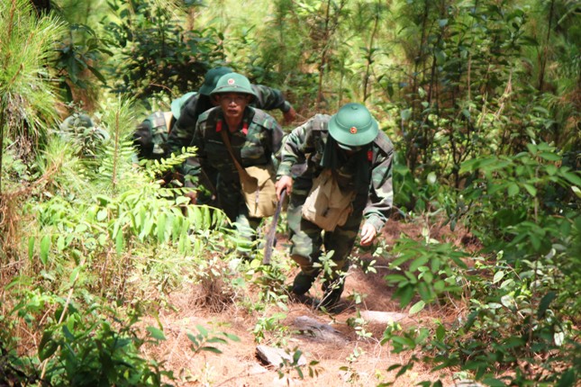
[[[448,227],[431,229],[430,232],[431,238],[467,249],[463,243],[467,240],[466,232],[458,230],[451,232]],[[422,226],[390,221],[382,238],[391,247],[402,233],[411,238],[422,238]],[[277,257],[285,257],[286,243],[284,241],[280,243],[282,236],[278,238]],[[196,293],[195,288],[171,295],[169,302],[173,310],[165,311],[158,317],[167,340],[159,347],[149,348],[148,355],[159,360],[163,359],[166,368],[174,371],[179,381],[178,385],[183,386],[335,387],[377,386],[380,383],[394,381],[397,371],[387,369],[391,365],[405,364],[410,355],[395,354],[388,343],[385,345],[380,343],[387,325],[385,321],[365,323],[362,329],[367,333],[366,337],[358,335],[352,321],[359,317],[359,313],[392,312],[395,320],[403,327],[430,327],[436,320],[452,323],[465,311],[464,302],[460,300],[444,307],[427,307],[424,311],[409,316],[409,306],[404,310],[400,308],[399,302],[392,298],[394,288],[388,286],[383,278],[390,272],[387,260],[381,257],[372,258],[370,253],[368,257],[360,258],[376,259],[377,273],[364,274],[360,266],[351,267],[338,311],[332,314],[325,313],[308,303],[290,301],[286,302],[286,311],[278,307],[268,311],[269,315],[284,313],[283,316],[286,317],[277,321],[275,329],[264,332],[265,339],[259,344],[276,347],[278,339],[279,344],[284,343],[281,347],[290,349],[291,354],[295,349],[300,349],[307,364],[312,361],[318,362],[312,367],[317,371],[316,375],[309,375],[308,365],[304,366],[304,375],[301,378],[293,367],[286,367],[281,375],[277,366],[265,364],[257,356],[259,344],[252,332],[257,324],[256,316],[253,316],[248,308],[237,306],[235,303],[219,312],[209,311],[196,301],[199,293]],[[287,282],[291,283],[292,279],[293,277],[289,276]],[[315,285],[311,294],[314,297],[321,297],[320,284]],[[350,301],[349,295],[354,292],[366,295],[359,304]],[[304,330],[304,327],[301,328],[301,321],[305,319],[323,324],[322,330],[328,329],[331,334],[322,337],[318,334],[321,332],[315,332],[321,329]],[[195,353],[191,349],[192,342],[187,338],[187,334],[196,335],[196,325],[202,325],[213,332],[236,335],[240,342],[208,344],[218,347],[222,354],[206,351]],[[272,336],[273,332],[282,332],[283,337],[275,338]],[[394,385],[413,386],[422,381],[433,382],[438,378],[444,386],[455,385],[450,373],[431,374],[428,365],[415,365],[411,371],[396,379]]]

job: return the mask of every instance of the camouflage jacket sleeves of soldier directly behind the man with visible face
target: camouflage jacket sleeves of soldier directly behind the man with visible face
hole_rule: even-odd
[[[282,92],[265,85],[252,85],[252,89],[258,95],[252,107],[260,110],[280,109],[281,112],[288,112],[291,104],[285,100]],[[195,122],[203,112],[213,107],[210,97],[203,94],[191,96],[184,107],[182,107],[179,120],[171,129],[168,137],[168,154],[179,154],[181,148],[188,147],[192,143],[195,130]]]

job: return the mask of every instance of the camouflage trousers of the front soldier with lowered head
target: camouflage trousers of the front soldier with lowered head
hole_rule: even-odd
[[[349,269],[347,258],[359,234],[367,193],[357,195],[353,202],[353,212],[343,226],[337,226],[334,231],[323,231],[313,222],[305,220],[301,214],[303,203],[312,185],[312,182],[309,183],[311,184],[301,186],[303,184],[300,181],[295,181],[286,210],[286,219],[290,229],[290,256],[301,266],[301,271],[305,275],[316,276],[322,270],[315,264],[320,262],[323,249],[325,253],[333,250],[331,260],[336,266],[333,267],[333,273],[328,279],[334,280],[339,277],[340,272],[346,272]]]

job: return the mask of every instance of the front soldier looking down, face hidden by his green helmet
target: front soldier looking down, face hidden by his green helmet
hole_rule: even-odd
[[[317,114],[295,128],[281,154],[277,196],[283,189],[290,193],[290,254],[301,267],[291,291],[303,299],[322,270],[317,265],[322,247],[326,253],[333,250],[336,266],[324,275],[320,303],[329,308],[343,292],[341,274],[349,268],[361,220],[362,246],[386,223],[393,202],[394,148],[365,106],[347,103],[333,116]],[[304,162],[306,168],[293,181],[291,169]]]

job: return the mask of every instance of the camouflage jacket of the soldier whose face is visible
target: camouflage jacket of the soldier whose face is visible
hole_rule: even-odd
[[[197,148],[196,157],[188,160],[184,173],[199,175],[200,167],[210,166],[220,174],[222,184],[237,185],[238,170],[222,141],[221,130],[229,132],[222,108],[214,107],[200,115],[191,144]],[[241,127],[230,133],[232,152],[243,167],[268,165],[280,148],[282,136],[282,129],[267,112],[247,107]]]

